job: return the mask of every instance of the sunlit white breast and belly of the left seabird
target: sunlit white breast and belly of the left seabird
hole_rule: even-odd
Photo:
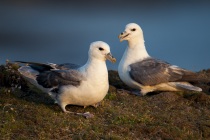
[[[87,80],[82,81],[79,87],[64,86],[60,97],[62,102],[88,106],[103,100],[109,88],[108,72],[105,63],[97,68],[88,69]]]

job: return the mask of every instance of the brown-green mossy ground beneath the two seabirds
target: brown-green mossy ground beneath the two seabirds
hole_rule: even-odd
[[[110,90],[98,108],[67,107],[95,116],[85,119],[63,113],[47,94],[25,83],[15,67],[4,68],[0,71],[0,139],[210,138],[209,83],[199,83],[205,93],[161,92],[138,97],[118,92],[125,86],[110,71]],[[15,84],[12,74],[19,78]]]

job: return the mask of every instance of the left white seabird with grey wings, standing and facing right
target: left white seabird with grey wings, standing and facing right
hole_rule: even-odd
[[[49,95],[64,112],[66,105],[95,106],[103,100],[109,88],[106,59],[116,62],[107,43],[91,43],[87,63],[79,67],[75,64],[27,63],[19,72],[32,84]]]

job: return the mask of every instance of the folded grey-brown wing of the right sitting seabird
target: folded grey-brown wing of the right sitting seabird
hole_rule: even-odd
[[[195,73],[170,65],[167,62],[148,58],[130,65],[130,76],[142,85],[156,85],[165,82],[185,81]]]

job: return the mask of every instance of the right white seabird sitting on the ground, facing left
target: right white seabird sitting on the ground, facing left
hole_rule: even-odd
[[[152,58],[147,53],[139,25],[127,24],[119,39],[128,41],[118,66],[119,76],[131,88],[141,90],[142,95],[153,91],[202,91],[189,83],[199,80],[196,73]]]

